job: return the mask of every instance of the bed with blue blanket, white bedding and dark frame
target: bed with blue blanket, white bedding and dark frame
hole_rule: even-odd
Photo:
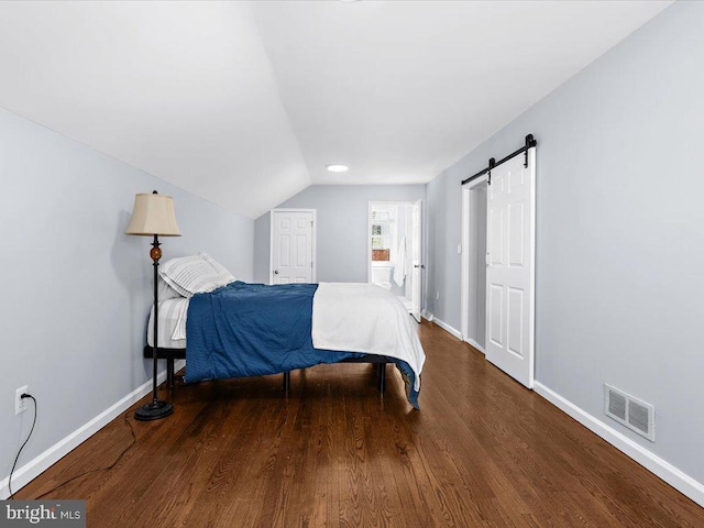
[[[197,256],[209,265],[215,262],[204,255]],[[191,293],[183,288],[184,275],[198,274],[174,273],[173,261],[161,272],[173,289],[160,286],[161,298],[170,297],[160,302],[158,310],[158,358],[167,361],[169,386],[177,359],[187,360],[186,383],[283,373],[286,391],[293,370],[364,362],[378,364],[383,392],[386,363],[394,363],[406,384],[406,397],[419,407],[425,353],[415,321],[383,288],[346,283],[267,286],[234,280],[228,272],[215,282],[200,279],[191,289],[201,292]],[[178,290],[173,288],[174,277],[182,279]],[[153,310],[145,358],[153,353],[152,319]]]

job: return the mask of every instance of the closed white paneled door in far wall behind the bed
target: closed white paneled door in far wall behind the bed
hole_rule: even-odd
[[[271,284],[312,283],[315,211],[272,211]]]

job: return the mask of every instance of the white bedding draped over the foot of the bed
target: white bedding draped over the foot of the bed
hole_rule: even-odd
[[[419,391],[426,354],[414,322],[396,296],[374,284],[320,283],[312,301],[312,345],[403,360],[416,373]]]

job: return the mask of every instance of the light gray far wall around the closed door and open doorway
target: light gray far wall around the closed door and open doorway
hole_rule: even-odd
[[[316,209],[319,282],[365,283],[369,202],[425,198],[425,185],[312,185],[278,207]],[[268,283],[268,213],[255,220],[254,233],[254,279]]]

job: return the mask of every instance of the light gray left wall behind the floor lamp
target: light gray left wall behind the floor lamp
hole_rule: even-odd
[[[252,279],[253,221],[0,110],[0,481],[151,378],[142,359],[152,301],[150,242],[123,234],[136,193],[174,197],[180,238],[163,260],[205,250]]]

